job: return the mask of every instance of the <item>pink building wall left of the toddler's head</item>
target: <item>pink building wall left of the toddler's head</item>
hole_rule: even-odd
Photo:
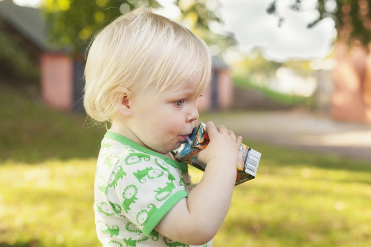
[[[43,53],[41,63],[41,93],[46,104],[68,111],[72,106],[73,67],[65,54]]]

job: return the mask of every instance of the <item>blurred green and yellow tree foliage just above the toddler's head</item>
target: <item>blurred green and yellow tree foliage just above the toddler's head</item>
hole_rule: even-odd
[[[176,0],[175,4],[181,11],[179,19],[209,45],[223,51],[235,44],[231,34],[210,31],[210,26],[221,23],[217,0]],[[86,50],[98,30],[139,6],[161,7],[156,0],[45,0],[44,13],[51,42],[78,53]]]

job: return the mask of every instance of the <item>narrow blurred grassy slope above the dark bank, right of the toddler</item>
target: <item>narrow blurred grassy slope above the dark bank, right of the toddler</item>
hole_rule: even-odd
[[[234,76],[233,81],[236,87],[261,92],[267,98],[280,102],[282,104],[303,107],[311,107],[313,105],[313,96],[304,97],[298,95],[281,94],[273,90],[270,90],[269,88],[255,85],[251,83],[249,79],[244,78],[242,76]]]

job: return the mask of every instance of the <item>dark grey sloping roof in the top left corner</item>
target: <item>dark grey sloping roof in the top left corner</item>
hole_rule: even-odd
[[[0,1],[0,18],[41,50],[55,50],[47,42],[45,21],[40,9]]]

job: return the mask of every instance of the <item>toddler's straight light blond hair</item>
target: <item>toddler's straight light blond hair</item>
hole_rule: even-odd
[[[122,88],[139,95],[153,85],[160,94],[199,74],[197,91],[202,92],[211,79],[206,43],[177,21],[141,7],[95,36],[85,67],[84,107],[92,119],[112,121]]]

